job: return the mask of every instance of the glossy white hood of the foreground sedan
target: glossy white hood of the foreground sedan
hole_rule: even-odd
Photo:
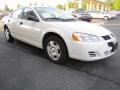
[[[102,26],[96,24],[76,21],[76,22],[51,22],[57,28],[62,28],[64,30],[71,30],[72,32],[81,32],[97,36],[109,35],[111,32]]]

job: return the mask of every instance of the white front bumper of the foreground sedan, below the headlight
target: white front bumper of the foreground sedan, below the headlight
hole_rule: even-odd
[[[82,61],[94,61],[107,58],[116,52],[116,40],[108,42],[71,42],[69,56]]]

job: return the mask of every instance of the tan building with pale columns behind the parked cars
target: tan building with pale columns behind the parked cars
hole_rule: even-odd
[[[100,0],[75,0],[78,3],[78,8],[85,8],[86,10],[110,10],[111,5]]]

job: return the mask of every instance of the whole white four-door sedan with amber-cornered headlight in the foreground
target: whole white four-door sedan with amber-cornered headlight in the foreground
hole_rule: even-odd
[[[51,7],[20,8],[3,21],[8,42],[15,38],[42,48],[54,63],[63,64],[68,58],[83,61],[107,58],[118,45],[109,30]]]

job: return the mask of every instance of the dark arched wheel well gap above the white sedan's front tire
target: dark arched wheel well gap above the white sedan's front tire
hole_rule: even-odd
[[[68,53],[68,48],[67,48],[67,45],[66,45],[64,39],[63,39],[60,35],[58,35],[58,34],[56,34],[56,33],[53,33],[53,32],[49,32],[49,33],[47,33],[47,34],[44,35],[44,37],[43,37],[43,42],[42,42],[43,48],[44,48],[45,40],[46,40],[48,37],[53,36],[53,35],[59,37],[59,38],[64,42],[64,44],[65,44],[65,46],[66,46],[66,49],[67,49],[67,53]]]

